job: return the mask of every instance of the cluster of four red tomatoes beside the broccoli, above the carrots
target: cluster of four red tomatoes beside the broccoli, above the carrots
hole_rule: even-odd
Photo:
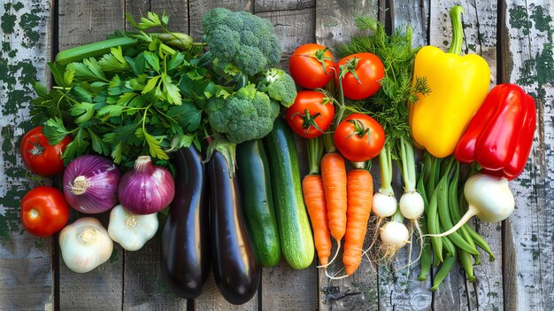
[[[304,89],[287,109],[286,117],[296,134],[304,138],[323,135],[335,118],[335,103],[343,98],[329,97],[323,91],[331,81],[340,94],[351,100],[371,97],[381,88],[385,70],[381,59],[372,53],[356,53],[335,63],[325,46],[307,43],[296,49],[289,61],[290,75]],[[326,95],[327,94],[327,95]],[[343,108],[339,108],[343,109]],[[342,113],[340,113],[342,116]],[[363,162],[376,157],[385,143],[381,125],[364,113],[352,113],[335,121],[333,140],[336,148],[350,161]]]

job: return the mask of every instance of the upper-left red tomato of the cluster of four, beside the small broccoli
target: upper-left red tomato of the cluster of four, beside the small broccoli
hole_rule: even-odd
[[[325,64],[325,71],[323,64]],[[320,44],[301,45],[290,56],[289,71],[296,84],[301,87],[323,88],[335,75],[333,54]]]

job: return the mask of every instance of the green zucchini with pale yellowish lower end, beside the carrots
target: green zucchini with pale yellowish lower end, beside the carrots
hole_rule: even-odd
[[[294,135],[287,123],[277,118],[273,130],[265,136],[264,144],[270,164],[283,257],[292,268],[308,268],[315,251],[302,196]]]

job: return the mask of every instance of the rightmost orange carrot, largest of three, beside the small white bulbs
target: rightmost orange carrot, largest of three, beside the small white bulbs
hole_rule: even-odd
[[[362,260],[365,230],[372,209],[373,178],[368,170],[351,169],[348,172],[346,184],[348,221],[344,234],[342,263],[346,274],[350,276]]]

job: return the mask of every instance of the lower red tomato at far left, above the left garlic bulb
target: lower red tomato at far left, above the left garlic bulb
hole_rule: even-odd
[[[50,237],[64,228],[68,218],[64,194],[54,187],[36,187],[21,199],[21,223],[36,237]]]

